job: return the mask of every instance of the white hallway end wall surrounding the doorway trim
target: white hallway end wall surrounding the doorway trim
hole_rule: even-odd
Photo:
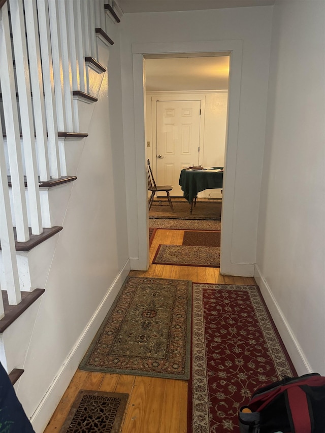
[[[122,22],[121,62],[123,88],[123,122],[126,145],[126,187],[128,227],[139,226],[139,219],[145,219],[145,199],[143,209],[139,209],[139,196],[145,197],[145,180],[142,179],[145,164],[136,170],[137,158],[145,158],[144,149],[137,147],[135,122],[141,107],[134,106],[134,82],[132,63],[132,44],[169,43],[177,47],[184,42],[194,46],[197,41],[240,41],[242,43],[242,75],[239,102],[238,125],[231,125],[232,137],[236,146],[236,179],[231,197],[231,227],[226,230],[231,236],[229,244],[228,272],[242,274],[247,267],[253,270],[256,258],[257,218],[259,206],[259,188],[261,182],[263,149],[265,139],[266,104],[269,72],[269,54],[271,43],[272,7],[232,8],[196,12],[138,13],[125,14]],[[233,107],[230,107],[232,110]],[[141,120],[139,120],[141,122]],[[138,123],[139,123],[138,121]],[[144,144],[144,143],[143,143]],[[141,143],[140,146],[143,146]],[[232,156],[233,158],[233,156]],[[234,161],[229,160],[231,164]],[[141,173],[140,173],[141,171]],[[142,173],[143,171],[143,173]],[[138,183],[135,182],[137,175]],[[143,191],[137,186],[143,185]],[[226,197],[224,197],[226,198]],[[141,207],[141,206],[140,206]],[[224,210],[224,208],[223,208]],[[130,231],[130,256],[141,254],[141,238],[146,236],[145,228],[139,237]],[[224,232],[225,233],[225,232]],[[222,246],[221,246],[222,248]],[[247,267],[245,267],[247,265]],[[252,274],[250,274],[252,275]]]

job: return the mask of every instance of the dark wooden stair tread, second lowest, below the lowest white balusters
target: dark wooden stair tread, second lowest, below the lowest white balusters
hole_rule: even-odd
[[[45,289],[34,289],[31,292],[21,292],[21,302],[18,305],[8,304],[8,295],[2,290],[2,298],[5,309],[5,317],[0,319],[0,333],[4,332],[27,308],[39,298]]]

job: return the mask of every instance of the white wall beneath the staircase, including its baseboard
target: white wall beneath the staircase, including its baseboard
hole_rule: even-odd
[[[43,431],[129,271],[119,35],[84,140],[17,395]],[[108,49],[107,49],[108,50]],[[108,56],[107,56],[108,58]],[[106,63],[105,63],[106,64]],[[83,143],[81,143],[83,145]],[[70,173],[69,173],[70,174]],[[28,313],[28,311],[26,312]]]

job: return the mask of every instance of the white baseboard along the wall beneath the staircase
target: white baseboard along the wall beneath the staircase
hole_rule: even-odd
[[[82,357],[86,353],[96,332],[105,319],[108,310],[112,306],[116,295],[118,294],[129,273],[129,270],[130,263],[129,260],[127,260],[123,269],[120,271],[113,281],[111,287],[108,289],[103,301],[92,315],[90,321],[72,348],[70,354],[63,362],[62,367],[58,371],[51,386],[44,395],[41,403],[37,407],[34,414],[32,414],[30,422],[32,423],[36,433],[43,433],[62,395],[68,388],[71,379],[77,371]]]

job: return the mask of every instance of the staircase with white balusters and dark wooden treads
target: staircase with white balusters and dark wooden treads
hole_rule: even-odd
[[[116,10],[104,0],[0,0],[0,361],[15,387],[93,107],[108,91]]]

